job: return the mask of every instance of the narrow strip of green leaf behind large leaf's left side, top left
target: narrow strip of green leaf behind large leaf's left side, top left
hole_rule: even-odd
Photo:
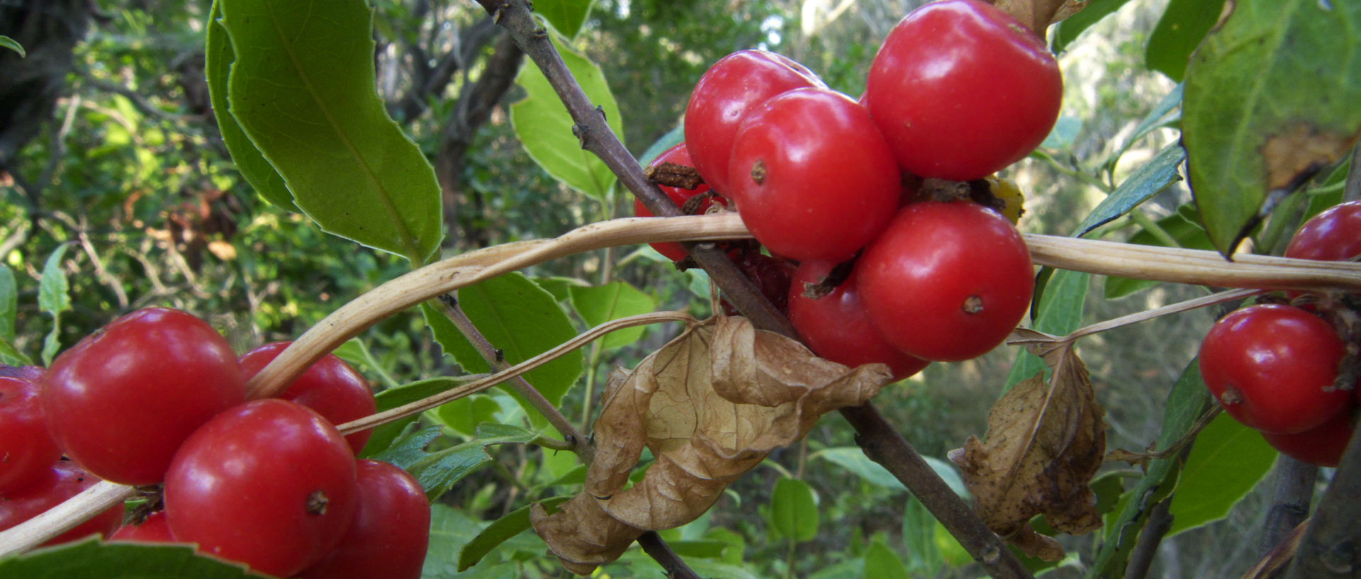
[[[245,177],[246,182],[265,201],[279,208],[301,213],[298,205],[293,204],[293,193],[283,185],[283,177],[274,166],[265,160],[264,154],[250,143],[250,137],[241,129],[237,117],[227,110],[227,82],[231,73],[231,63],[237,54],[231,48],[231,38],[227,29],[222,27],[222,0],[212,1],[212,16],[208,18],[208,41],[204,48],[204,68],[208,80],[208,99],[212,102],[212,114],[218,118],[218,129],[222,133],[222,143],[231,154],[231,162],[237,164],[237,171]]]

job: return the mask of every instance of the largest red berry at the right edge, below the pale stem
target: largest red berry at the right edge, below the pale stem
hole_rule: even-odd
[[[1334,387],[1345,347],[1332,326],[1298,307],[1248,306],[1225,315],[1200,343],[1200,376],[1244,425],[1294,434],[1351,408]]]

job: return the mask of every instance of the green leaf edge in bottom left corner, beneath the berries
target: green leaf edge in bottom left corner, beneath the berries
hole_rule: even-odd
[[[80,541],[0,560],[0,576],[23,579],[263,578],[244,565],[195,555],[188,545]]]

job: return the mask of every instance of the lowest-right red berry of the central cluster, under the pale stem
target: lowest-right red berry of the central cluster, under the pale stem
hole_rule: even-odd
[[[904,207],[856,262],[860,299],[890,344],[924,360],[977,357],[1015,329],[1034,268],[1007,217],[969,201]]]

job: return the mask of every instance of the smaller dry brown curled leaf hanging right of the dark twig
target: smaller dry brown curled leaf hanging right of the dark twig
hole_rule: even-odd
[[[1051,383],[1038,374],[1013,387],[988,415],[987,442],[970,436],[950,459],[994,533],[1055,561],[1063,548],[1029,521],[1044,514],[1051,526],[1072,534],[1101,526],[1089,484],[1105,454],[1105,412],[1071,343],[1033,330],[1014,337],[1053,368]]]

